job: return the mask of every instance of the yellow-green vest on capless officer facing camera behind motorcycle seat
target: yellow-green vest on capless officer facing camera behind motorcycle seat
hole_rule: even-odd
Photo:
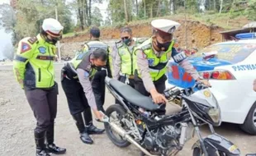
[[[143,41],[145,41],[145,39],[135,39],[135,46],[142,44]],[[116,43],[116,48],[121,57],[121,73],[128,76],[134,75],[136,60],[134,60],[133,53],[135,48],[130,52],[126,44],[123,44],[121,41]]]

